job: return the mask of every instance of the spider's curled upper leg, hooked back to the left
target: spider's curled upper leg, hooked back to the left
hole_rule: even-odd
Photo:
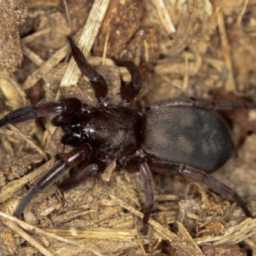
[[[120,105],[122,106],[131,106],[132,100],[138,94],[138,92],[140,92],[142,86],[142,77],[140,70],[132,61],[118,61],[115,58],[112,58],[112,60],[115,61],[118,67],[126,67],[129,73],[131,74],[131,82],[128,84],[122,84],[122,100],[120,102]]]

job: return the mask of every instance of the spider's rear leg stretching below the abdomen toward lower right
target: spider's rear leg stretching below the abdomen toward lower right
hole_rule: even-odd
[[[234,189],[228,187],[223,182],[214,179],[214,177],[212,177],[211,175],[203,171],[196,170],[195,168],[192,168],[190,166],[186,166],[185,164],[166,163],[152,158],[148,159],[147,162],[153,172],[165,175],[184,175],[206,184],[214,192],[220,194],[221,196],[224,196],[230,201],[236,202],[236,204],[239,205],[241,209],[243,209],[247,217],[253,218],[252,212],[248,209],[246,203],[241,198],[241,196],[239,196]]]

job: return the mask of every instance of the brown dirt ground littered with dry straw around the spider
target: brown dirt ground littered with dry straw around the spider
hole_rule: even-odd
[[[256,101],[256,0],[3,0],[0,117],[40,100],[77,97],[97,106],[70,58],[72,35],[118,104],[131,60],[143,76],[132,108],[172,97]],[[212,176],[256,216],[256,111],[225,111],[237,148]],[[153,174],[155,205],[141,234],[138,173],[112,165],[69,191],[58,184],[12,216],[42,173],[68,152],[51,118],[0,129],[0,255],[256,255],[256,219],[186,177]],[[115,172],[114,172],[115,171]],[[65,177],[68,173],[65,174]],[[64,179],[64,177],[63,177]]]

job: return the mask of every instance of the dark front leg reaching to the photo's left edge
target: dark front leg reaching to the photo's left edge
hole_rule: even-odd
[[[81,107],[81,101],[76,98],[52,102],[38,102],[37,104],[19,108],[7,114],[0,120],[0,127],[6,124],[17,124],[40,116],[78,111]]]

